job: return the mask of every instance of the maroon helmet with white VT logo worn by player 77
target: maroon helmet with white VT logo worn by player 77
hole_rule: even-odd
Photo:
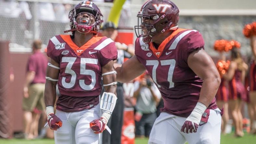
[[[134,27],[136,36],[143,37],[143,42],[149,43],[153,36],[163,33],[167,29],[177,29],[179,9],[169,0],[149,0],[141,7],[137,17],[138,25]],[[149,20],[153,20],[153,22],[148,23]],[[143,33],[143,31],[147,33]]]

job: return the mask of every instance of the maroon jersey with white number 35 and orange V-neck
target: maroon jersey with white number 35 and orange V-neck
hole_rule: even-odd
[[[58,35],[50,39],[47,55],[60,67],[58,110],[76,111],[98,104],[101,67],[117,58],[115,42],[93,37],[78,47],[70,35]]]

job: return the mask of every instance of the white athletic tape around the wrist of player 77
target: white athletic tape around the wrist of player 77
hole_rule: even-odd
[[[202,115],[206,109],[207,107],[204,104],[198,102],[191,114],[186,118],[186,121],[191,121],[199,125]]]

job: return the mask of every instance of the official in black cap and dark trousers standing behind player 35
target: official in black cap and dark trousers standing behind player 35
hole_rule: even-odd
[[[116,37],[118,36],[118,31],[115,24],[111,21],[106,22],[105,25],[103,26],[102,35],[115,41]],[[134,55],[133,46],[127,46],[126,44],[124,43],[121,44],[120,42],[115,42],[115,45],[117,47],[117,60],[115,61],[115,63],[122,64],[124,62],[125,57],[130,58],[131,56]],[[108,126],[111,129],[112,134],[110,135],[106,131],[103,132],[103,136],[102,136],[103,144],[121,144],[123,109],[124,109],[124,99],[123,99],[124,90],[122,85],[123,84],[120,82],[117,83],[116,93],[117,93],[118,99],[116,102],[116,107],[118,108],[114,109],[113,114],[108,123]],[[103,92],[101,92],[101,94]]]

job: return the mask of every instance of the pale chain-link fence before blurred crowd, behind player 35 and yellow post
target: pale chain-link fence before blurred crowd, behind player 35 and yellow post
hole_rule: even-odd
[[[34,39],[41,39],[47,45],[50,38],[69,30],[68,14],[81,1],[68,3],[43,3],[35,1],[0,0],[0,40],[9,41],[11,47],[30,48]],[[96,3],[107,21],[112,3]],[[136,12],[135,12],[136,11]],[[136,14],[138,9],[134,11]],[[133,10],[124,6],[119,26],[132,28]]]

